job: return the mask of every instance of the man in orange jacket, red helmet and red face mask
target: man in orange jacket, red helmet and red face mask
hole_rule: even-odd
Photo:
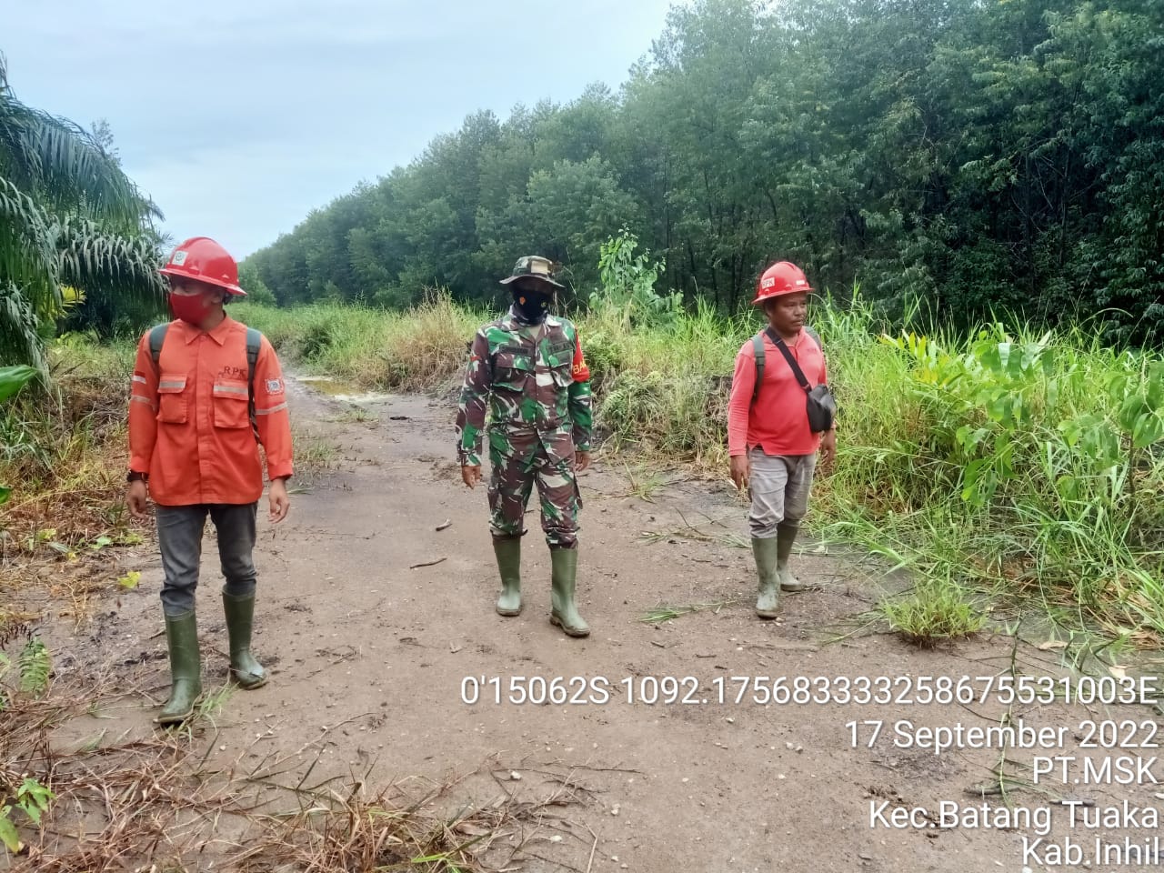
[[[230,675],[247,689],[267,682],[267,672],[250,653],[251,552],[263,492],[258,446],[271,482],[270,520],[282,521],[290,508],[291,421],[275,349],[222,308],[232,296],[246,296],[234,258],[213,240],[196,236],[175,249],[162,274],[170,281],[175,320],[137,345],[127,503],[140,519],[147,517],[147,489],[157,504],[171,689],[156,721],[178,724],[201,694],[194,590],[207,514],[218,531],[226,577]]]

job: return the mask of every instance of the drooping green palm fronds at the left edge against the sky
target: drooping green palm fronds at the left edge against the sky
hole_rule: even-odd
[[[85,291],[86,327],[155,315],[161,217],[93,135],[16,99],[0,55],[0,364],[45,372],[63,283]]]

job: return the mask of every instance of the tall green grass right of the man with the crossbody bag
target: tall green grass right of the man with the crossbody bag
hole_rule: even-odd
[[[850,339],[830,357],[833,535],[930,580],[1164,633],[1164,362],[1083,327]]]

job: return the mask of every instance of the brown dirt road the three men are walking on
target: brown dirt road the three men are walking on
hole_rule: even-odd
[[[352,773],[368,773],[369,785],[411,780],[418,788],[460,780],[440,801],[450,809],[505,795],[568,800],[553,807],[558,818],[526,822],[495,842],[492,863],[512,870],[1018,873],[1074,868],[1048,861],[1051,843],[1074,840],[1091,859],[1096,837],[1122,846],[1124,837],[1155,836],[1142,822],[1081,824],[1084,811],[1110,803],[1159,803],[1164,789],[1144,773],[1123,787],[1077,785],[1071,765],[1066,783],[1051,775],[1025,789],[1009,783],[1013,814],[998,794],[974,792],[996,790],[992,768],[1002,752],[975,744],[971,729],[998,726],[1008,711],[1016,725],[1055,729],[1050,746],[1006,753],[1007,773],[1029,783],[1034,755],[1150,758],[1147,748],[1078,750],[1086,719],[1133,719],[1145,726],[1124,740],[1151,739],[1147,707],[1008,707],[973,681],[964,686],[973,701],[904,702],[925,700],[929,676],[1010,676],[1013,663],[1020,675],[1058,676],[1060,652],[1002,637],[938,652],[888,634],[830,643],[854,630],[844,622],[878,591],[872,570],[811,553],[795,560],[819,589],[786,596],[785,617],[760,622],[745,510],[730,490],[674,481],[647,494],[620,461],[602,457],[581,480],[580,610],[592,634],[568,639],[548,622],[549,562],[535,513],[523,556],[525,610],[501,618],[485,494],[460,482],[447,400],[388,397],[353,414],[348,402],[292,388],[297,426],[312,434],[300,448],[334,446],[334,469],[293,497],[282,526],[260,516],[256,651],[274,677],[225,702],[217,733],[204,740],[211,762],[241,773],[277,753],[290,760],[292,782],[308,767],[313,781]],[[205,553],[213,555],[210,534]],[[65,653],[62,669],[132,661],[116,669],[159,703],[168,681],[156,636],[161,570],[148,546],[127,561],[143,570],[139,589],[111,601],[84,636],[54,645]],[[226,668],[218,590],[210,574],[198,595],[208,687]],[[659,604],[714,602],[724,605],[661,625],[639,620]],[[737,676],[768,679],[737,703]],[[787,686],[774,686],[778,676],[788,676]],[[797,676],[828,680],[811,686],[817,702],[765,704],[773,691],[796,690]],[[857,676],[874,680],[865,695],[873,700],[846,704],[846,693],[863,697],[860,682],[844,687]],[[551,690],[541,680],[553,677],[581,679],[553,686],[554,702],[540,702]],[[885,696],[876,677],[894,682],[889,703],[875,702]],[[686,702],[640,702],[656,686]],[[567,693],[579,702],[560,703]],[[538,702],[514,702],[523,696]],[[102,714],[100,726],[144,736],[152,714],[132,701]],[[88,736],[93,725],[84,721],[62,737]],[[924,747],[918,729],[959,725],[956,747]],[[1164,768],[1149,771],[1164,779]],[[1095,805],[1060,802],[1072,800]],[[938,826],[953,823],[941,817],[953,805],[957,826]],[[1032,854],[1039,810],[1050,823]],[[1095,858],[1091,868],[1127,867]]]

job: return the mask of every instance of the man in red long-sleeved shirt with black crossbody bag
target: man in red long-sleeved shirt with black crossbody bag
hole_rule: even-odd
[[[768,317],[761,334],[762,381],[757,392],[755,341],[748,340],[736,356],[728,404],[731,477],[737,488],[750,487],[752,492],[748,527],[760,577],[755,601],[760,618],[779,615],[781,589],[804,588],[788,569],[788,558],[808,511],[817,452],[825,463],[837,452],[835,430],[817,434],[809,427],[805,390],[776,345],[782,343],[796,361],[809,388],[828,383],[824,352],[815,334],[804,329],[811,290],[803,271],[787,261],[760,276],[752,304],[762,305]]]

